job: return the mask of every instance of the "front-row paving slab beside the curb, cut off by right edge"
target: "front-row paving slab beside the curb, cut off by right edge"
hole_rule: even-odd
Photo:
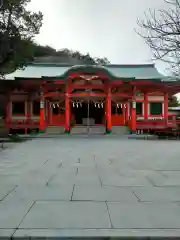
[[[178,229],[180,207],[173,203],[108,203],[114,228]]]

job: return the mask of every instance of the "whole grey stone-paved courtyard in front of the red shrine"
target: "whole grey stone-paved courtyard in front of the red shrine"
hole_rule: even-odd
[[[0,152],[0,237],[180,236],[179,141],[33,139]]]

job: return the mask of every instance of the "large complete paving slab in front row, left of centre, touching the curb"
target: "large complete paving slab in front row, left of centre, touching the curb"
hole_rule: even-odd
[[[19,228],[110,228],[105,203],[36,202]]]

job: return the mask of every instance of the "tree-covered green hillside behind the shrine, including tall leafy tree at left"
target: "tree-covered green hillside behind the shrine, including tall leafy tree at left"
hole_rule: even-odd
[[[69,49],[56,50],[34,43],[43,14],[27,10],[30,0],[4,0],[0,3],[0,75],[23,68],[32,61],[69,64],[107,64],[107,58]]]

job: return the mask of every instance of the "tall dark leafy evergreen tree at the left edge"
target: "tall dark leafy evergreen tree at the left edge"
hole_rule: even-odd
[[[32,41],[43,15],[26,9],[30,0],[2,0],[0,6],[0,74],[26,65],[33,58]]]

